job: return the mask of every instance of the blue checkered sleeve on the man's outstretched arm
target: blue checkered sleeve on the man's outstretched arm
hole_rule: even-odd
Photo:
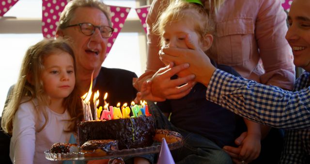
[[[207,87],[206,99],[267,126],[283,129],[310,127],[310,88],[285,91],[217,69]]]

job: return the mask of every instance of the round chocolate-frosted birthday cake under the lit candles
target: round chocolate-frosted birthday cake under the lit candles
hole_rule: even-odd
[[[139,116],[78,123],[79,144],[89,140],[117,140],[118,148],[143,148],[153,144],[155,122],[153,116]]]

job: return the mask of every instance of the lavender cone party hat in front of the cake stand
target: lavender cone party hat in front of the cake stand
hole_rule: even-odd
[[[161,142],[157,164],[175,164],[165,138]]]

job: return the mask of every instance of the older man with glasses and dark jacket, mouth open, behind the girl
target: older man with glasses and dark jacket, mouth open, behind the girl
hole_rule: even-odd
[[[108,6],[102,1],[72,0],[62,11],[56,37],[68,38],[72,43],[77,66],[76,82],[81,96],[88,91],[93,80],[93,91],[99,90],[101,96],[108,93],[107,102],[116,106],[118,102],[134,100],[137,91],[132,81],[137,75],[101,66],[107,57],[108,39],[113,31]]]

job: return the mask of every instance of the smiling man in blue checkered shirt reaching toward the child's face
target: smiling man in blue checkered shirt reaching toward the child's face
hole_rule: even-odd
[[[161,59],[175,65],[189,64],[186,71],[207,86],[208,100],[249,120],[285,129],[281,164],[310,164],[310,0],[294,0],[288,21],[286,39],[293,49],[294,64],[306,70],[296,80],[294,92],[216,69],[188,36],[190,49],[165,48]]]

